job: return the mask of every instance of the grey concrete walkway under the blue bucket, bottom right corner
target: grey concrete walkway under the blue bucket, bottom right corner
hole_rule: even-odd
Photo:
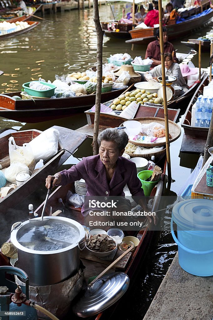
[[[177,253],[143,320],[212,319],[213,276],[185,272]]]

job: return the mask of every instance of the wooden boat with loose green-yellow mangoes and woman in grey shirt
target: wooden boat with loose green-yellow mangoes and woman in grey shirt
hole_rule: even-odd
[[[201,79],[204,77],[206,78],[206,73],[203,73],[201,76]],[[185,105],[189,103],[189,100],[193,96],[193,94],[197,91],[199,87],[199,83],[193,84],[193,86],[184,94],[181,96],[175,98],[172,101],[168,102],[168,116],[169,120],[176,121],[177,116],[180,112],[180,109],[184,109]],[[106,106],[109,106],[112,103],[111,101],[107,101],[105,103]],[[179,107],[179,108],[178,108]],[[88,135],[90,138],[93,137],[93,130],[94,130],[94,119],[95,119],[95,112],[89,110],[86,110],[84,112],[87,117],[87,124],[83,127],[80,127],[76,129],[76,131],[84,133]],[[140,118],[140,117],[146,117],[146,116],[154,116],[154,117],[160,117],[164,118],[164,109],[163,107],[158,106],[138,106],[138,109],[136,110],[135,114],[132,116],[133,118]],[[119,115],[111,115],[110,113],[104,113],[100,112],[100,121],[99,121],[99,132],[105,130],[108,127],[114,128],[118,127],[120,124],[122,124],[124,121],[127,121],[129,119],[122,118]]]

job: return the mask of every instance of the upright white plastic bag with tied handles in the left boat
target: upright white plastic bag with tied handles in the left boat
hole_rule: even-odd
[[[16,145],[13,137],[9,138],[9,156],[10,163],[20,162],[26,164],[30,171],[35,168],[35,159],[32,148],[29,143],[24,143],[23,147]],[[22,169],[24,170],[24,169]]]

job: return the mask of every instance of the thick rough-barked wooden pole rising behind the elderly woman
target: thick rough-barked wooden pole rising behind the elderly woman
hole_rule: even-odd
[[[97,34],[97,86],[95,98],[95,119],[94,119],[94,132],[93,132],[93,155],[99,153],[98,134],[99,134],[99,120],[100,120],[100,103],[101,103],[101,87],[102,87],[102,53],[103,53],[103,37],[104,31],[101,28],[99,19],[99,5],[98,0],[93,0],[93,20],[95,22]]]

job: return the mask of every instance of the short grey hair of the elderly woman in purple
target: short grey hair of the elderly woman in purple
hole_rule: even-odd
[[[103,130],[101,133],[99,133],[98,136],[98,144],[100,147],[101,141],[114,141],[119,151],[124,149],[129,141],[128,135],[126,132],[123,131],[123,129],[117,129],[117,128],[107,128]]]

